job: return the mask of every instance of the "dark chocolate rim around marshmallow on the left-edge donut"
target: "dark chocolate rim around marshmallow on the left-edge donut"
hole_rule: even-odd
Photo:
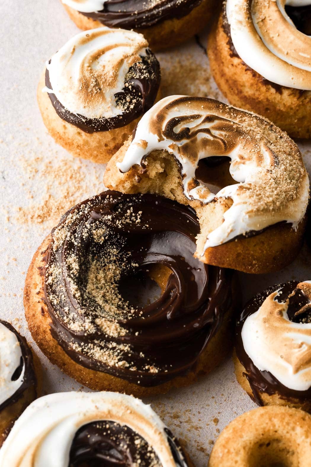
[[[9,329],[12,333],[15,334],[21,346],[20,365],[15,369],[13,373],[11,377],[12,381],[16,381],[20,377],[23,367],[25,367],[24,379],[21,383],[21,386],[14,392],[14,394],[11,397],[9,397],[6,401],[0,404],[1,413],[1,410],[5,409],[8,405],[16,403],[23,396],[25,391],[31,387],[34,388],[36,397],[37,379],[35,376],[33,356],[30,348],[28,347],[27,340],[23,336],[21,336],[10,323],[7,323],[7,321],[3,321],[2,319],[0,319],[0,323],[6,326],[7,329]]]

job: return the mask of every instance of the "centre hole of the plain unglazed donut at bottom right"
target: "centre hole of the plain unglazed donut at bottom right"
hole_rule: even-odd
[[[247,459],[249,467],[295,467],[299,466],[297,450],[289,439],[261,439],[251,447]]]

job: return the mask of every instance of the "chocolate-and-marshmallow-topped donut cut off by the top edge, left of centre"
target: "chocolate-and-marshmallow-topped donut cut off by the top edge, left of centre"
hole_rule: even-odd
[[[103,26],[134,29],[153,50],[187,41],[204,28],[218,0],[61,0],[81,29]]]

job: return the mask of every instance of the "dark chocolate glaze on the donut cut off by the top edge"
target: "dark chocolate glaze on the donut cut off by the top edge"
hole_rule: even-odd
[[[202,0],[106,0],[104,8],[82,13],[111,28],[149,28],[173,18],[189,14]]]

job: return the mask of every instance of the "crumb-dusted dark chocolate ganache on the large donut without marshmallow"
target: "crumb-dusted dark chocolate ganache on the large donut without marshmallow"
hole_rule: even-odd
[[[232,271],[193,256],[199,231],[192,208],[152,194],[105,191],[69,210],[45,268],[51,332],[65,352],[145,387],[193,369],[233,307]],[[159,267],[169,275],[158,299],[124,299],[121,284]]]

